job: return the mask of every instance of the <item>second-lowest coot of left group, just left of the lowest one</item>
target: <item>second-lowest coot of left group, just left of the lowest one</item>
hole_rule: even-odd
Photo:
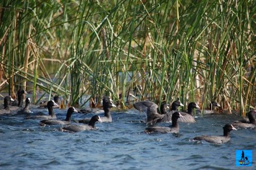
[[[56,120],[56,119],[46,119],[46,120],[41,120],[40,125],[45,126],[45,125],[69,125],[71,124],[71,115],[74,112],[78,112],[74,107],[68,108],[66,119],[65,120]]]

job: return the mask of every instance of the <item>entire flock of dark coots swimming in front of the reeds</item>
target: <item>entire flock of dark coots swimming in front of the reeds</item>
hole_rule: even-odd
[[[0,109],[0,115],[23,115],[24,119],[39,119],[40,125],[62,125],[59,128],[61,131],[67,132],[78,132],[84,130],[92,130],[95,129],[95,122],[112,122],[111,117],[111,108],[116,107],[109,97],[103,98],[103,110],[104,116],[99,117],[98,115],[94,115],[92,118],[85,118],[81,120],[74,120],[75,123],[71,122],[71,115],[74,112],[80,113],[88,113],[94,112],[92,109],[84,109],[77,111],[74,107],[69,107],[67,111],[66,119],[59,120],[54,114],[54,108],[59,108],[57,103],[58,97],[54,98],[54,100],[50,100],[48,102],[42,103],[39,107],[48,108],[48,115],[45,115],[43,112],[33,112],[30,110],[31,100],[30,98],[25,99],[25,107],[23,107],[24,94],[26,92],[23,89],[19,89],[17,91],[17,100],[13,100],[11,96],[6,96],[4,98],[4,108]],[[137,101],[133,104],[134,108],[145,112],[146,119],[140,120],[147,124],[147,128],[144,129],[144,133],[179,133],[179,124],[178,122],[185,122],[188,124],[195,123],[195,117],[193,117],[194,109],[196,109],[196,114],[201,114],[202,110],[199,110],[199,106],[196,102],[190,102],[188,104],[188,111],[181,112],[178,111],[178,107],[184,106],[182,103],[177,100],[172,102],[171,108],[166,102],[162,102],[160,108],[158,105],[152,101]],[[22,108],[23,107],[23,108]],[[35,106],[34,106],[35,107]],[[38,107],[38,106],[36,106]],[[216,101],[212,101],[209,106],[210,110],[204,110],[204,114],[212,114],[214,112],[215,107],[220,107],[220,105]],[[193,140],[205,140],[209,143],[214,144],[222,144],[226,143],[230,140],[229,133],[231,130],[237,130],[240,128],[254,128],[255,124],[255,115],[256,110],[250,110],[248,112],[248,119],[238,120],[232,123],[228,123],[223,127],[223,136],[197,136],[194,137]],[[171,122],[171,126],[161,127],[156,126],[156,124],[160,122]]]

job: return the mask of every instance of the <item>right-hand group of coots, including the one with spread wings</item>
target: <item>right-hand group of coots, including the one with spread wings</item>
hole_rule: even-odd
[[[167,110],[169,107],[166,102],[162,102],[160,106],[160,114],[158,113],[158,105],[152,101],[138,101],[133,104],[134,108],[139,111],[144,111],[147,117],[147,124],[149,127],[145,128],[144,132],[147,134],[150,133],[179,133],[179,124],[178,122],[186,123],[195,123],[195,118],[193,115],[193,109],[197,109],[196,114],[202,113],[202,110],[199,110],[199,106],[195,102],[190,102],[188,104],[188,112],[178,111],[179,106],[184,106],[182,103],[177,100],[174,101],[171,105],[171,110]],[[206,114],[211,114],[214,112],[214,107],[220,107],[216,101],[210,103],[210,110],[203,110]],[[193,140],[205,140],[208,143],[214,144],[223,144],[230,140],[230,131],[237,130],[235,127],[241,128],[253,128],[255,127],[255,115],[256,110],[251,110],[248,112],[249,119],[243,119],[233,123],[228,123],[223,127],[223,136],[197,136]],[[168,127],[161,126],[152,126],[159,122],[172,122]]]

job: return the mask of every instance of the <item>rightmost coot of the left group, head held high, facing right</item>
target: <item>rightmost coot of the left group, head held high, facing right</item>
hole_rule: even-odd
[[[112,107],[116,107],[113,104],[113,100],[109,97],[104,97],[103,98],[104,116],[100,118],[102,120],[102,122],[112,122],[112,117],[111,117],[111,114],[110,114],[110,109]],[[88,119],[88,118],[81,119],[81,120],[75,120],[75,122],[79,122],[79,123],[83,123],[83,124],[88,124],[89,121],[90,121],[90,119]]]

